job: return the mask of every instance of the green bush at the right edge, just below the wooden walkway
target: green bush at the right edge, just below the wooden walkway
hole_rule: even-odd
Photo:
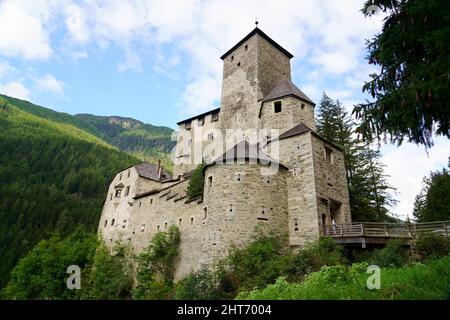
[[[449,239],[440,234],[423,233],[416,240],[416,252],[422,260],[449,254]]]

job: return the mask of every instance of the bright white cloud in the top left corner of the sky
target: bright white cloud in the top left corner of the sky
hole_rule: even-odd
[[[23,6],[26,6],[23,1],[0,2],[0,54],[46,59],[52,49],[40,18],[47,16],[41,10],[33,14]]]

